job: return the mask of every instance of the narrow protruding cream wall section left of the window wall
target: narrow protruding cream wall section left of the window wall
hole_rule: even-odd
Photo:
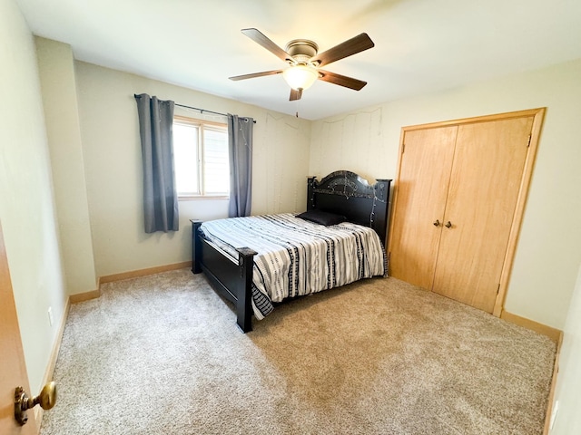
[[[69,295],[97,288],[70,45],[34,38]]]

